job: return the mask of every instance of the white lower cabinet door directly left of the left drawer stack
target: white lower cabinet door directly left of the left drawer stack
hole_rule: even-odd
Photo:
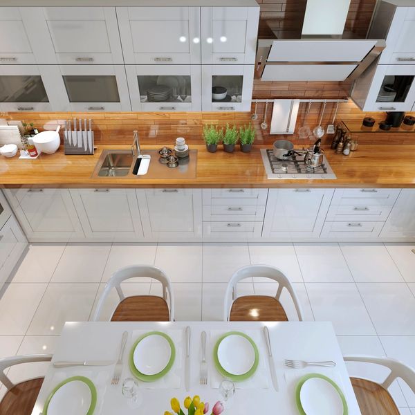
[[[192,241],[201,238],[201,189],[144,189],[136,192],[146,239]]]

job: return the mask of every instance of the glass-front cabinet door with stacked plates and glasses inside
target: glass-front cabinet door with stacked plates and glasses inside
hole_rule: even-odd
[[[201,68],[127,65],[133,111],[201,111]]]

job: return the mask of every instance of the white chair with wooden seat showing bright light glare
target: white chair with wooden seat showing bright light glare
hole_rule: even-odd
[[[278,283],[275,297],[270,295],[244,295],[237,297],[237,284],[242,279],[262,277]],[[288,321],[286,311],[280,299],[283,289],[286,288],[293,300],[298,320],[302,321],[302,308],[297,295],[288,278],[277,268],[268,265],[250,265],[237,270],[226,288],[223,302],[223,320],[227,321]]]

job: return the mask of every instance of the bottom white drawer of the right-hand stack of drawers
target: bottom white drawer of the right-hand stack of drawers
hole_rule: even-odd
[[[382,230],[385,222],[382,221],[345,221],[345,222],[324,222],[322,238],[343,239],[365,239],[376,238]]]

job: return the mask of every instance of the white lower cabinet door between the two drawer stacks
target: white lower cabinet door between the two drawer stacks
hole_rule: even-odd
[[[270,189],[262,237],[299,241],[320,236],[333,189]]]

